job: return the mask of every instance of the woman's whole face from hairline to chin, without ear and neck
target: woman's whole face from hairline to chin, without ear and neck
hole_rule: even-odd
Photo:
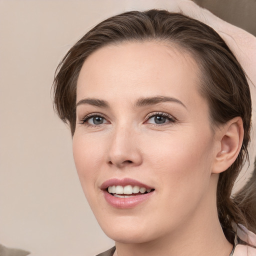
[[[217,142],[198,76],[189,54],[157,42],[109,45],[85,60],[73,155],[112,239],[172,235],[214,211]]]

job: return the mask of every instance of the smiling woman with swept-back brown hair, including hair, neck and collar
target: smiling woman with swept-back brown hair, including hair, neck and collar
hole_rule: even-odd
[[[231,198],[249,86],[213,29],[164,10],[113,16],[68,51],[53,86],[84,194],[115,241],[100,255],[255,254],[255,216]]]

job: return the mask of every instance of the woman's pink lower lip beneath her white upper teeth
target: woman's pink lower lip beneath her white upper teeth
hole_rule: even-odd
[[[147,200],[150,196],[152,196],[153,191],[150,193],[133,195],[131,197],[126,197],[126,198],[115,197],[109,194],[107,191],[103,191],[103,194],[104,194],[105,200],[113,207],[120,208],[120,209],[127,209],[127,208],[133,208],[136,205]]]

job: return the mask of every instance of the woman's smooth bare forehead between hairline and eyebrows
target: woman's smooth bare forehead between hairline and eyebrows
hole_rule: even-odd
[[[163,95],[189,100],[198,97],[199,70],[192,56],[158,42],[107,45],[84,61],[77,81],[83,97],[118,100]],[[170,95],[171,94],[171,95]]]

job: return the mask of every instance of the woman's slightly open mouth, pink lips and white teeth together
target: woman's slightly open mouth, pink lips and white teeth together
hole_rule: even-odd
[[[130,178],[109,179],[102,183],[100,189],[103,191],[105,200],[115,208],[135,207],[152,197],[155,190]]]

